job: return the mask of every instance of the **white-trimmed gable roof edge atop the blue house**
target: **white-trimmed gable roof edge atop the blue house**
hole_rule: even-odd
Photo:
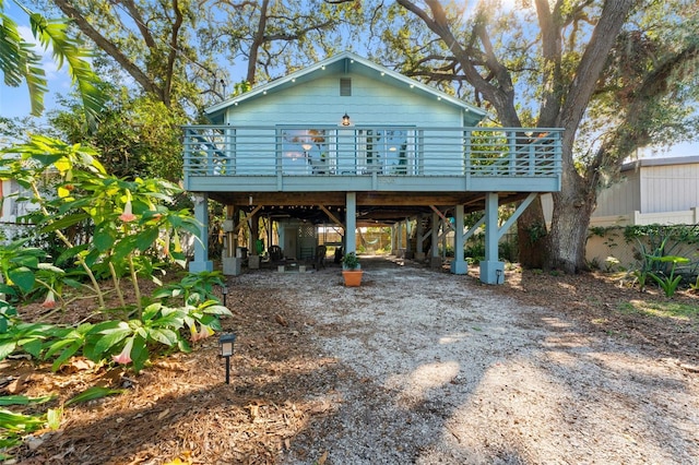
[[[226,109],[234,105],[238,105],[244,102],[249,102],[262,95],[280,92],[280,91],[312,81],[318,78],[319,73],[324,73],[324,72],[337,73],[337,74],[354,73],[354,74],[359,74],[359,75],[364,75],[364,76],[367,76],[370,79],[377,79],[377,80],[388,79],[388,80],[391,80],[391,82],[395,86],[404,86],[410,88],[411,92],[427,95],[433,98],[437,98],[448,105],[460,107],[464,111],[464,114],[469,114],[470,119],[475,119],[479,121],[486,115],[486,112],[483,109],[476,106],[470,105],[460,98],[446,94],[429,85],[423,84],[418,81],[407,78],[401,73],[389,70],[388,68],[383,68],[379,64],[376,64],[351,51],[345,51],[340,55],[335,55],[333,57],[327,58],[308,68],[304,68],[303,70],[295,71],[291,74],[287,74],[286,76],[279,78],[274,81],[270,81],[265,84],[254,87],[249,92],[237,95],[233,98],[228,98],[218,104],[212,105],[211,107],[206,108],[204,112],[206,114],[206,116],[212,122],[222,122],[223,115],[225,114]]]

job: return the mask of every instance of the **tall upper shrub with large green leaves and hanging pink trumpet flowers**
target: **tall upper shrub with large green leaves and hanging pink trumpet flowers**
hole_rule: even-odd
[[[138,275],[151,276],[154,269],[146,257],[183,263],[178,231],[197,234],[199,227],[190,212],[167,206],[181,192],[177,186],[158,178],[126,181],[107,175],[94,151],[49,138],[33,136],[5,152],[20,155],[1,163],[8,177],[33,192],[32,201],[39,205],[33,215],[37,231],[56,235],[64,249],[57,260],[80,265],[92,283],[100,308],[104,308],[104,293],[98,278],[111,277],[120,293],[119,279],[129,275],[139,297],[137,306],[140,306]],[[44,194],[39,184],[46,172],[52,174],[54,191]],[[69,231],[84,224],[91,225],[92,240],[75,243]],[[17,266],[12,253],[21,243],[13,246],[0,252],[0,266],[8,277],[14,273],[15,279],[10,281],[20,278],[19,284],[26,290],[33,276],[28,265],[38,267],[37,260],[28,262],[32,249],[27,249],[21,254],[27,263],[21,262],[22,266]],[[46,275],[42,283],[48,291],[60,293],[62,278],[68,277],[61,276],[62,270],[43,265],[42,272]]]

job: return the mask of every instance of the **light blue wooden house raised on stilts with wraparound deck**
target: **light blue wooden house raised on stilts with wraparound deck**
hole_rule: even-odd
[[[560,189],[559,130],[479,126],[482,109],[351,52],[206,114],[211,124],[185,128],[185,188],[204,225],[191,271],[213,269],[205,238],[214,200],[229,217],[224,261],[236,250],[240,211],[252,237],[259,215],[295,224],[282,243],[293,257],[312,253],[316,240],[298,225],[341,227],[351,252],[358,225],[417,218],[424,228],[413,252],[435,258],[440,231],[483,211],[481,279],[501,283],[498,239],[538,193]],[[516,201],[516,214],[500,224],[498,206]],[[453,249],[463,250],[476,227],[457,228]],[[463,254],[455,255],[452,272],[466,273]]]

